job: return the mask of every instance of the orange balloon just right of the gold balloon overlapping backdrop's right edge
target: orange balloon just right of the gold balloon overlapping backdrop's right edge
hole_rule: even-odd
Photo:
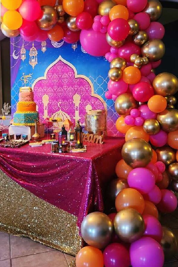
[[[134,66],[129,66],[123,70],[123,81],[128,84],[135,84],[141,79],[141,72]]]

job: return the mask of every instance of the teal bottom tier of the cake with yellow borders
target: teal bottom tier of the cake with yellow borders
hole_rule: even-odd
[[[38,112],[15,112],[13,125],[34,126],[35,120],[38,119]]]

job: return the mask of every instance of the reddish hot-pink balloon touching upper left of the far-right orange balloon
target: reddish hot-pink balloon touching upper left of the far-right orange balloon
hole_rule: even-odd
[[[136,101],[147,102],[154,95],[154,89],[147,82],[139,82],[134,86],[132,94]]]

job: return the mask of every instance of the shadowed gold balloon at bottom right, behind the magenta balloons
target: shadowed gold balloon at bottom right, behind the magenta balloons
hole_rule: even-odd
[[[177,239],[173,231],[167,227],[162,227],[163,237],[161,239],[161,246],[164,251],[165,259],[171,259],[177,252]]]

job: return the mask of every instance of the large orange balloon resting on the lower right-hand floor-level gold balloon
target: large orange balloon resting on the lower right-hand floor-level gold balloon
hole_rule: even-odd
[[[122,209],[132,208],[136,209],[140,214],[144,211],[144,198],[133,188],[125,188],[117,195],[115,206],[117,212]]]

